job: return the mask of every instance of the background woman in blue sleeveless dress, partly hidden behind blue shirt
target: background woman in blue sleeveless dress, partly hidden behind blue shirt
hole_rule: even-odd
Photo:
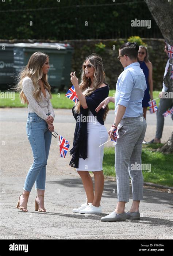
[[[147,88],[145,90],[145,94],[142,100],[143,107],[143,116],[146,119],[147,107],[149,106],[150,99],[153,100],[153,66],[152,63],[148,59],[148,50],[146,46],[140,45],[138,51],[138,62],[140,68],[143,70],[145,74]],[[145,141],[143,141],[145,143]]]

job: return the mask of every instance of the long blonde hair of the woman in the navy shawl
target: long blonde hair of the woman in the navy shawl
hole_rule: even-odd
[[[90,85],[92,83],[91,78],[87,78],[85,76],[85,71],[84,69],[82,69],[80,71],[81,73],[81,83],[79,84],[79,87],[82,91],[82,94],[84,96],[89,96],[91,95],[96,89],[98,89],[100,87],[100,85],[105,81],[105,73],[104,73],[104,67],[103,67],[103,61],[102,58],[96,54],[96,53],[92,53],[91,55],[89,55],[88,57],[86,57],[86,60],[84,61],[83,64],[85,64],[85,62],[88,61],[89,64],[91,64],[91,66],[93,66],[94,70],[94,76],[93,76],[93,87],[90,88]],[[80,107],[81,107],[81,103],[78,101],[74,107],[74,111],[76,113],[80,112]],[[103,120],[105,120],[107,114],[108,114],[109,108],[108,106],[105,107],[105,111],[103,114]]]

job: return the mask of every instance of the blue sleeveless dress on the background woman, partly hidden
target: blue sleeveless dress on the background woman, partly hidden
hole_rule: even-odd
[[[147,88],[144,93],[144,97],[142,100],[142,107],[148,107],[148,102],[150,101],[150,87],[149,87],[149,69],[147,65],[145,64],[145,61],[139,61],[140,68],[143,70],[143,73],[145,74],[146,84]]]

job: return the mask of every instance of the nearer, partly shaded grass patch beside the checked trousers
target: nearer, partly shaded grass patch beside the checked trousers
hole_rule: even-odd
[[[173,187],[173,154],[155,152],[163,144],[143,145],[142,164],[151,164],[151,172],[142,171],[144,181]],[[114,146],[104,148],[104,175],[115,176]]]

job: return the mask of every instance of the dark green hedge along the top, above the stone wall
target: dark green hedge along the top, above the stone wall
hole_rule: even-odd
[[[6,0],[0,5],[0,39],[162,38],[144,1]],[[135,19],[151,20],[152,26],[131,27]]]

